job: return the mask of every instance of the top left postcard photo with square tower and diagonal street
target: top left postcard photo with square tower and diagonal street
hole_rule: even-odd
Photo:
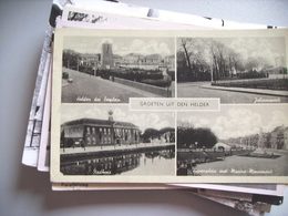
[[[62,40],[58,62],[62,103],[175,96],[174,38],[64,35]]]

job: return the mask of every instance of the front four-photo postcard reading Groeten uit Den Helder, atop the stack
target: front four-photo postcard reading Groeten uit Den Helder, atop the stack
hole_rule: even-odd
[[[287,183],[287,33],[56,30],[51,181]]]

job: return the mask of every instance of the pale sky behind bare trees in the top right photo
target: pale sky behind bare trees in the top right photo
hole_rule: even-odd
[[[209,48],[205,49],[205,45],[209,44],[210,38],[196,38],[193,39],[200,42],[200,49],[204,52],[204,56],[207,62],[210,61]],[[226,47],[239,53],[246,61],[248,58],[264,58],[270,65],[275,65],[276,58],[286,56],[286,44],[284,37],[271,37],[271,38],[213,38],[214,41],[224,43]],[[207,48],[207,47],[206,47]],[[194,50],[195,52],[195,50]],[[282,62],[284,64],[285,62]],[[284,64],[285,65],[285,64]],[[282,66],[284,66],[282,65]]]

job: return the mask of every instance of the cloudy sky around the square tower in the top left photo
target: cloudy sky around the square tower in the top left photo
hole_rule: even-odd
[[[112,43],[114,54],[128,53],[161,54],[163,56],[174,54],[173,38],[103,38],[103,37],[65,37],[63,49],[71,49],[81,53],[101,53],[102,43]]]

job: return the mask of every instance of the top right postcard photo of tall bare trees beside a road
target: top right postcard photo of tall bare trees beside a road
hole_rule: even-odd
[[[177,38],[177,96],[222,103],[287,103],[287,44],[282,35],[249,32]]]

